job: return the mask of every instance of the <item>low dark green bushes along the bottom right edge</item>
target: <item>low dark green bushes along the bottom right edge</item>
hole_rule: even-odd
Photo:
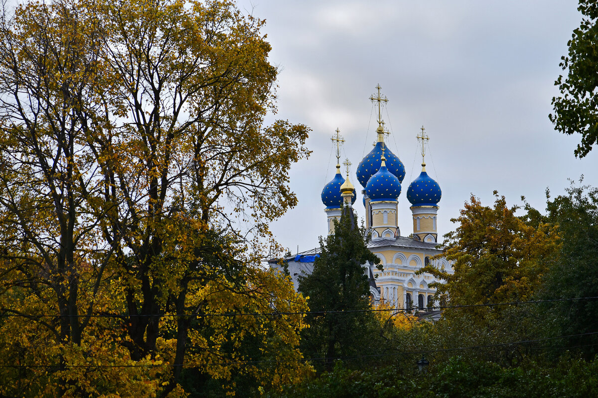
[[[598,394],[598,361],[563,359],[556,365],[503,368],[490,362],[469,362],[451,357],[443,366],[431,363],[428,374],[417,374],[416,359],[410,366],[350,370],[338,363],[316,380],[289,386],[271,397],[588,397]]]

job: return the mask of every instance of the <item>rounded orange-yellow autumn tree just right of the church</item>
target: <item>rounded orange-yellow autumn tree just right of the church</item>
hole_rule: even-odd
[[[444,280],[434,287],[450,304],[529,300],[557,254],[555,226],[532,226],[515,215],[519,206],[508,208],[504,196],[495,196],[492,208],[471,196],[451,219],[459,226],[445,235],[448,245],[439,256],[453,263],[454,274],[433,264],[422,269]]]

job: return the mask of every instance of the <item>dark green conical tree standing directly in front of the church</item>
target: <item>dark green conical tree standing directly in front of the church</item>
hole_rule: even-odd
[[[316,312],[306,317],[309,328],[301,335],[301,348],[308,357],[325,358],[331,369],[335,358],[367,351],[377,320],[368,312],[322,312],[370,309],[370,283],[361,266],[380,260],[367,248],[365,230],[350,208],[335,221],[334,235],[320,238],[320,250],[312,274],[299,278],[299,291]]]

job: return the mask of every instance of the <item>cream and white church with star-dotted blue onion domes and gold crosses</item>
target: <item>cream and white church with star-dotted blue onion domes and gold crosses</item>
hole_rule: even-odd
[[[365,227],[371,235],[368,248],[380,258],[383,270],[380,271],[373,264],[364,264],[362,267],[370,277],[370,295],[374,304],[384,301],[396,308],[424,309],[435,305],[435,289],[429,284],[437,280],[428,273],[417,275],[416,271],[430,262],[449,273],[453,271],[446,259],[432,260],[432,257],[442,252],[437,233],[438,203],[442,192],[437,181],[426,172],[425,146],[429,138],[422,127],[422,132],[417,135],[422,147],[422,171],[407,188],[413,233],[401,236],[397,210],[405,166],[385,144],[385,135],[389,132],[384,127],[381,106],[388,99],[381,96],[380,85],[376,88],[377,95],[372,95],[370,100],[377,103],[378,107],[377,141],[371,152],[359,162],[356,178],[363,188]],[[357,198],[355,187],[349,181],[349,159],[344,162],[346,178],[341,174],[339,145],[344,140],[338,129],[332,141],[337,144],[336,174],[322,190],[328,234],[334,233],[334,220],[340,218],[342,206],[354,206]],[[299,275],[312,273],[318,251],[319,248],[316,248],[283,259],[295,289]],[[270,260],[269,264],[271,268],[282,269],[279,260]]]

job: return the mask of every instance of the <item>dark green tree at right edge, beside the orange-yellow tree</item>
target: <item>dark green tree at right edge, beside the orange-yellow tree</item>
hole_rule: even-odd
[[[598,297],[598,189],[582,183],[583,177],[578,186],[571,182],[566,195],[548,199],[547,219],[559,226],[563,244],[558,261],[547,273],[541,298]],[[595,299],[550,303],[543,310],[556,318],[555,334],[598,332],[598,301]],[[581,345],[577,349],[591,358],[598,352],[596,343],[596,335],[581,335],[556,344],[568,348]]]

